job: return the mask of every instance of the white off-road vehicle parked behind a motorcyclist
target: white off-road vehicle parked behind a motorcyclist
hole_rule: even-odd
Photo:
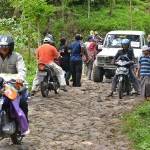
[[[107,33],[102,45],[102,51],[96,56],[93,64],[93,81],[102,82],[106,78],[114,76],[115,66],[111,64],[114,56],[121,49],[122,39],[131,41],[136,58],[142,55],[142,46],[145,45],[145,33],[143,31],[111,31]]]

